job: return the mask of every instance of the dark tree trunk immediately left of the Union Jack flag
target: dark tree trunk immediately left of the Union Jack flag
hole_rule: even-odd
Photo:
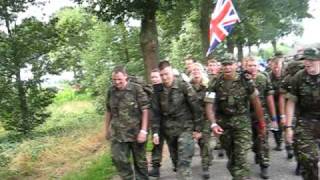
[[[202,44],[202,56],[206,57],[209,47],[209,26],[210,26],[210,12],[212,11],[213,4],[211,0],[201,0],[200,2],[200,33]]]

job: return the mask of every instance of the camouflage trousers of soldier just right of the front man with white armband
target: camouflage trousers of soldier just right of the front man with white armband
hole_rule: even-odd
[[[252,151],[258,158],[257,161],[260,167],[269,167],[270,154],[269,154],[269,142],[268,142],[268,130],[264,138],[259,137],[259,121],[251,116],[252,120]]]

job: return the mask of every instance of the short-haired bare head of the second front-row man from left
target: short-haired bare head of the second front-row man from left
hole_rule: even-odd
[[[159,70],[163,85],[171,87],[174,80],[174,73],[169,61],[161,61],[159,63]]]

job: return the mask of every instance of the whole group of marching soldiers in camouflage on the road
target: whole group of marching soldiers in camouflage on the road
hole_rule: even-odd
[[[239,64],[228,54],[209,59],[206,67],[187,57],[185,66],[186,71],[179,74],[169,61],[161,61],[150,73],[149,94],[145,85],[131,80],[124,67],[114,68],[105,129],[122,179],[160,177],[164,142],[177,179],[192,179],[196,143],[202,176],[209,179],[212,134],[226,152],[234,180],[250,179],[250,150],[260,165],[261,178],[268,179],[271,130],[274,150],[281,151],[285,144],[288,158],[296,157],[302,177],[318,180],[320,49],[306,48],[289,62],[275,54],[266,71],[259,71],[254,57]],[[149,127],[154,146],[148,172]]]

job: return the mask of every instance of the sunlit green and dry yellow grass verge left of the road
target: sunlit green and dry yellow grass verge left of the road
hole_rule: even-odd
[[[68,100],[55,99],[48,107],[51,117],[28,137],[0,132],[1,179],[61,179],[108,158],[103,116],[93,102],[86,96],[64,97]]]

